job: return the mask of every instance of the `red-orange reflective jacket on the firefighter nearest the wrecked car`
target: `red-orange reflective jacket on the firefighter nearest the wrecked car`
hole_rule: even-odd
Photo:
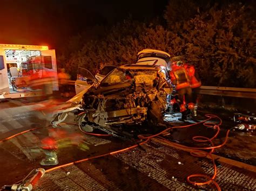
[[[177,90],[190,87],[190,79],[184,67],[172,65],[170,77]]]

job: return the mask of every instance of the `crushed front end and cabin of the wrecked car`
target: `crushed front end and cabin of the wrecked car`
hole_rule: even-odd
[[[113,69],[101,82],[55,110],[52,125],[62,123],[72,112],[81,129],[107,133],[134,131],[140,126],[163,126],[166,96],[172,91],[158,60],[129,64]],[[150,63],[149,63],[150,62]]]

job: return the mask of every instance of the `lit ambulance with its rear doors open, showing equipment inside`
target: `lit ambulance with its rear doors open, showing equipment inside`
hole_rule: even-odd
[[[58,90],[56,55],[48,46],[0,44],[0,98],[42,95],[31,87],[31,77],[52,74],[52,90]]]

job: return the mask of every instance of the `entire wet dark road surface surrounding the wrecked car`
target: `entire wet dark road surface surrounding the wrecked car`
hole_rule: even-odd
[[[58,99],[58,102],[63,101],[65,99]],[[44,157],[44,153],[39,149],[39,146],[41,140],[48,136],[48,129],[51,128],[48,126],[50,117],[36,111],[44,103],[40,100],[38,102],[34,102],[34,100],[9,100],[0,103],[0,139],[27,129],[41,128],[0,143],[0,186],[20,181],[33,168],[41,167],[39,161]],[[202,118],[204,112],[201,113]],[[207,112],[214,113],[214,111],[209,110]],[[218,115],[224,119],[224,122],[220,127],[219,138],[214,139],[215,145],[223,143],[226,130],[234,125],[229,118],[232,117],[231,114],[218,112]],[[180,117],[179,114],[167,115],[166,119],[173,126],[188,124],[177,121],[178,117]],[[72,117],[68,121],[73,122]],[[77,146],[61,148],[58,150],[59,165],[134,145],[134,142],[124,142],[124,140],[113,137],[98,138],[84,135],[74,125],[63,125],[63,129],[70,133],[76,132],[83,135],[89,150],[83,151]],[[193,136],[211,137],[214,132],[215,130],[212,128],[195,125],[191,128],[175,129],[170,136],[165,138],[187,146],[199,146],[198,143],[192,141]],[[254,136],[254,132],[232,131],[227,144],[215,150],[214,154],[255,166],[256,141]],[[212,174],[211,161],[208,159],[195,158],[185,151],[166,147],[153,141],[142,147],[52,171],[45,174],[35,188],[41,190],[51,190],[50,188],[58,190],[90,190],[92,188],[123,190],[199,189],[188,184],[186,176],[193,173]],[[179,161],[184,165],[178,165]],[[255,183],[253,183],[255,182],[255,173],[232,165],[228,166],[228,164],[222,165],[223,169],[219,169],[221,175],[217,175],[217,182],[221,187],[226,189],[242,189],[242,187],[248,190],[256,189]],[[45,169],[48,168],[51,167]],[[228,179],[225,178],[225,174],[227,176],[232,173],[237,175],[233,178],[229,176]],[[80,178],[77,179],[77,176]],[[206,188],[214,188],[214,186]]]

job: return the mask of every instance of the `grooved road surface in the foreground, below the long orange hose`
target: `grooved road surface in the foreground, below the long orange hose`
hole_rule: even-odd
[[[143,148],[143,149],[142,149]],[[80,162],[46,173],[35,190],[199,190],[191,174],[213,175],[211,160],[154,142],[111,156]],[[255,190],[256,173],[223,162],[216,181],[223,190]],[[200,180],[200,179],[198,179]],[[205,180],[201,180],[205,181]]]

